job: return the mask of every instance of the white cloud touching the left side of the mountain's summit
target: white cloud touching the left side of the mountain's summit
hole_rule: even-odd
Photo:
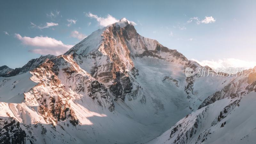
[[[92,14],[91,12],[86,13],[86,16],[96,19],[99,22],[99,25],[101,27],[106,27],[108,25],[111,25],[111,24],[116,23],[116,22],[119,21],[119,20],[117,20],[116,18],[114,18],[113,16],[111,16],[109,14],[108,14],[107,18],[98,17],[97,15]]]

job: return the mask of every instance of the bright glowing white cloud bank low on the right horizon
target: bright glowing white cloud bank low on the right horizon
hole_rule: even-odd
[[[239,60],[239,59],[220,59],[220,60],[202,60],[198,61],[195,59],[192,59],[196,62],[198,62],[202,66],[209,66],[211,68],[244,68],[249,69],[256,66],[256,61],[245,61],[245,60]]]

